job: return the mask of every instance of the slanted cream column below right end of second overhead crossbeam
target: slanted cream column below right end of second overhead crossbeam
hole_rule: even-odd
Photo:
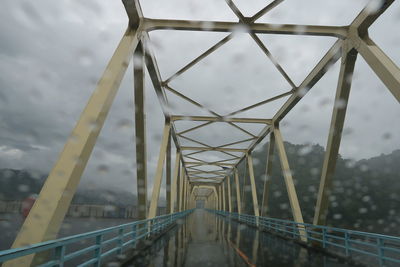
[[[274,126],[274,135],[276,140],[276,145],[278,148],[279,159],[281,162],[283,177],[285,179],[286,190],[289,196],[290,207],[292,209],[293,219],[297,223],[304,223],[303,214],[301,213],[299,199],[297,198],[296,188],[294,187],[292,173],[289,167],[289,161],[287,159],[285,145],[283,144],[283,138],[279,126]],[[299,227],[301,234],[304,234],[304,227]],[[305,236],[302,236],[303,241],[307,241]]]

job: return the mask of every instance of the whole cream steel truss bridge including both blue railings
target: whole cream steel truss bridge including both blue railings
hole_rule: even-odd
[[[353,22],[346,26],[277,25],[256,22],[282,1],[275,0],[253,16],[246,17],[232,0],[226,0],[232,12],[237,16],[238,22],[225,22],[147,18],[142,13],[137,0],[123,0],[129,17],[128,28],[122,36],[86,108],[77,121],[71,133],[71,138],[67,140],[58,161],[49,174],[37,201],[14,241],[12,249],[0,252],[0,262],[4,262],[3,266],[38,264],[42,264],[41,266],[63,266],[68,264],[68,261],[77,259],[84,254],[89,256],[86,256],[86,260],[81,262],[81,266],[100,266],[109,257],[121,255],[126,251],[140,247],[140,244],[143,244],[141,243],[143,240],[154,239],[155,236],[162,236],[168,233],[177,222],[184,222],[183,224],[185,225],[186,221],[190,220],[191,216],[194,216],[196,212],[205,212],[196,211],[192,214],[198,200],[204,202],[208,211],[207,216],[217,216],[218,220],[235,220],[260,231],[267,231],[287,239],[294,239],[303,246],[312,246],[327,253],[334,253],[337,257],[344,257],[346,260],[352,260],[352,257],[357,254],[359,256],[366,255],[366,257],[371,258],[371,262],[381,266],[400,264],[400,238],[325,226],[330,188],[351,88],[351,77],[359,54],[397,101],[400,101],[400,70],[368,35],[369,27],[391,6],[394,0],[381,1],[379,8],[373,12],[368,8],[364,8]],[[207,26],[205,27],[205,25]],[[171,87],[172,80],[229,42],[233,38],[234,29],[237,27],[248,29],[248,34],[265,53],[267,59],[271,60],[276,69],[282,74],[290,85],[291,90],[269,99],[255,100],[253,105],[229,114],[219,114]],[[299,29],[301,29],[301,32]],[[149,44],[149,32],[158,30],[228,32],[230,34],[183,66],[174,75],[163,79],[152,47]],[[337,40],[304,80],[299,85],[296,85],[257,34],[301,34],[334,37]],[[81,179],[82,172],[132,57],[134,57],[136,166],[140,166],[136,170],[139,220],[104,230],[56,239]],[[296,188],[290,172],[279,124],[324,76],[328,67],[339,60],[341,64],[335,103],[341,102],[344,105],[335,105],[333,109],[314,220],[312,224],[306,224],[303,220]],[[150,74],[151,82],[165,116],[150,203],[147,203],[146,114],[144,108],[145,68]],[[171,114],[168,109],[167,91],[204,109],[210,116]],[[262,116],[261,118],[240,117],[240,113],[244,111],[287,96],[287,101],[271,118],[262,118]],[[202,123],[178,132],[175,126],[177,121]],[[240,130],[244,135],[243,139],[233,143],[212,146],[185,135],[188,132],[206,128],[214,123],[228,124]],[[261,124],[263,129],[258,135],[254,135],[239,125],[243,123]],[[91,125],[93,124],[96,127],[92,127]],[[261,178],[254,175],[252,152],[265,138],[269,138],[268,159],[266,162],[267,179],[264,183],[262,203],[258,203],[255,181]],[[182,146],[182,140],[191,141],[196,146]],[[250,142],[247,148],[238,147],[239,144],[246,142]],[[171,143],[175,145],[177,151],[173,170],[171,170]],[[275,147],[284,176],[293,221],[267,217],[272,157]],[[198,158],[199,154],[207,156],[207,153],[211,152],[219,152],[225,158],[218,161],[206,161]],[[242,210],[241,192],[244,188],[240,186],[237,170],[238,165],[242,162],[246,162],[248,169],[253,214],[243,214]],[[156,216],[164,164],[166,166],[168,214]],[[204,170],[203,167],[205,166],[213,167],[213,170]],[[224,233],[227,232],[225,231]],[[74,252],[68,252],[69,246],[73,247],[82,240],[91,240],[91,242]],[[111,245],[111,248],[105,249],[106,245]],[[353,260],[357,260],[357,257]],[[176,262],[178,264],[182,263]]]

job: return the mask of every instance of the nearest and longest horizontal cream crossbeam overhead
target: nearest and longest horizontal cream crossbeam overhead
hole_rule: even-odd
[[[238,28],[248,29],[253,33],[288,34],[288,35],[312,35],[332,36],[345,39],[347,26],[318,26],[318,25],[294,25],[271,23],[240,23],[228,21],[199,21],[199,20],[173,20],[150,19],[143,20],[147,31],[153,30],[181,30],[181,31],[213,31],[234,32]]]

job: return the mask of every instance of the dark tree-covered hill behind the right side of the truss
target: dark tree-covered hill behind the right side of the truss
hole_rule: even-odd
[[[257,178],[264,177],[265,174],[267,147],[268,144],[253,154]],[[312,223],[324,148],[320,145],[294,145],[288,142],[285,142],[285,148],[304,220]],[[241,175],[244,170],[245,166],[239,168]],[[268,216],[292,220],[281,173],[275,150]],[[248,175],[246,179],[249,185]],[[333,184],[328,224],[360,231],[400,235],[400,150],[359,161],[339,156]],[[256,187],[261,205],[263,179],[257,179]],[[246,192],[245,202],[246,212],[252,213],[250,190]]]

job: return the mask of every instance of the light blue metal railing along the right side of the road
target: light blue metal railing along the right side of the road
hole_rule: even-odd
[[[400,237],[226,211],[208,211],[302,242],[307,240],[307,243],[320,245],[330,252],[353,258],[355,261],[380,266],[399,266],[400,264]]]

